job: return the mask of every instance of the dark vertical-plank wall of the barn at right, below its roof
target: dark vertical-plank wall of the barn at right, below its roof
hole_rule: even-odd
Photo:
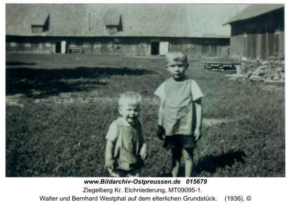
[[[278,36],[275,37],[276,34]],[[268,57],[284,58],[284,56],[283,8],[273,11],[272,14],[268,13],[231,24],[231,58],[258,60]]]

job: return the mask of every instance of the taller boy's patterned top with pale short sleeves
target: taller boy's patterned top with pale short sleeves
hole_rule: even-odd
[[[176,81],[171,77],[155,94],[165,100],[163,127],[166,135],[192,135],[196,120],[193,101],[203,97],[196,82],[187,78]]]

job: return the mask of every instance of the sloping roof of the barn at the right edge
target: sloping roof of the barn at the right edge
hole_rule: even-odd
[[[251,4],[245,9],[243,9],[240,13],[230,18],[224,25],[234,21],[259,16],[280,8],[284,8],[284,4]]]

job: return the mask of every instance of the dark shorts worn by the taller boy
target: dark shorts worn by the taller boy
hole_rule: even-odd
[[[194,134],[166,136],[162,147],[166,149],[197,147],[197,141],[195,141]]]

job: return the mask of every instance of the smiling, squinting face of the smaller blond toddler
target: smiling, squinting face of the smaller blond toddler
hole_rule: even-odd
[[[122,106],[118,108],[118,112],[130,125],[134,125],[140,113],[140,106],[132,106],[129,100],[125,100]]]

